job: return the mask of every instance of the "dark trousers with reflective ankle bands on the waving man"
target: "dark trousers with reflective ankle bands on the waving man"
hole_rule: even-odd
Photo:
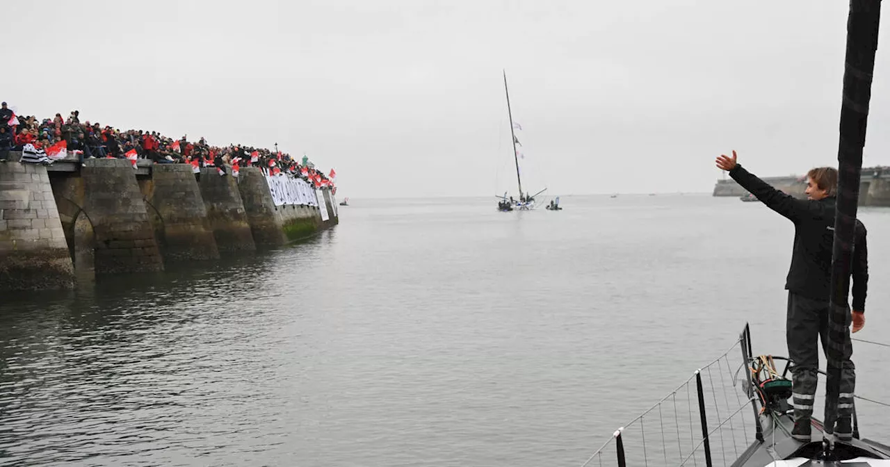
[[[853,414],[853,393],[856,385],[856,367],[850,357],[853,355],[853,345],[850,341],[850,316],[849,307],[846,312],[846,336],[844,345],[844,366],[841,371],[840,397],[837,399],[837,416],[849,417]],[[800,420],[813,416],[813,401],[816,395],[816,384],[819,369],[819,347],[816,341],[822,343],[822,351],[828,345],[829,332],[829,302],[813,300],[804,296],[789,292],[788,294],[788,322],[785,333],[788,341],[788,356],[794,361],[794,369],[791,375],[792,406],[794,407],[794,419]]]

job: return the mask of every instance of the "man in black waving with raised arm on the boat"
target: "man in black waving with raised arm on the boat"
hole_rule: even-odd
[[[810,423],[819,369],[817,341],[821,338],[823,351],[828,343],[837,170],[833,167],[810,170],[806,174],[807,199],[803,200],[774,189],[756,175],[748,173],[736,159],[735,151],[732,151],[732,157],[717,157],[716,165],[729,171],[732,180],[764,205],[794,222],[794,248],[785,283],[785,288],[789,291],[785,333],[789,358],[795,364],[791,376],[795,420],[791,436],[801,441],[810,441]],[[851,270],[853,310],[849,318],[853,322],[854,333],[865,326],[865,295],[869,281],[866,233],[865,226],[857,219]],[[850,320],[847,321],[847,326],[850,325]],[[853,346],[849,330],[845,343],[844,368],[837,404],[838,418],[834,432],[839,439],[853,439],[851,418],[856,374],[850,359]]]

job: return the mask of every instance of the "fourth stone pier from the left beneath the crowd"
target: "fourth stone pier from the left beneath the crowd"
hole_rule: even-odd
[[[238,179],[231,176],[231,169],[225,176],[217,173],[215,168],[201,169],[200,178],[198,185],[201,197],[204,198],[207,220],[214,232],[219,251],[255,251],[247,211],[238,189]]]

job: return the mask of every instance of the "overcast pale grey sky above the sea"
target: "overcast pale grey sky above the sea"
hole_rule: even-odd
[[[305,152],[340,197],[710,191],[837,164],[844,0],[4,2],[23,115]],[[7,14],[8,13],[8,14]],[[885,21],[886,22],[886,21]],[[882,28],[865,164],[890,165]],[[15,65],[12,65],[15,64]]]

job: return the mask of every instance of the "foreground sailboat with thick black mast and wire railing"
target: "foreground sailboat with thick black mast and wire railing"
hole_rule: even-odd
[[[801,435],[795,437],[792,434],[795,400],[798,400],[797,404],[802,404],[799,402],[800,399],[809,399],[810,403],[814,404],[815,399],[813,396],[798,396],[793,392],[794,383],[789,377],[789,371],[794,364],[793,360],[789,357],[771,354],[756,355],[753,352],[750,328],[746,323],[739,339],[730,350],[712,360],[708,365],[696,370],[686,382],[667,397],[660,399],[643,415],[637,416],[630,423],[626,423],[614,431],[611,439],[606,441],[594,455],[591,455],[582,467],[594,465],[595,462],[596,465],[603,465],[603,460],[609,463],[611,452],[615,453],[614,458],[619,467],[626,467],[628,464],[659,463],[662,456],[665,463],[668,463],[668,456],[676,459],[672,462],[675,465],[700,465],[698,464],[700,461],[696,460],[698,457],[704,461],[703,465],[708,467],[719,460],[722,460],[724,465],[734,467],[805,467],[815,465],[823,467],[878,467],[890,465],[890,443],[862,438],[857,415],[870,413],[874,407],[866,405],[861,407],[860,401],[886,407],[890,407],[890,403],[864,398],[856,394],[855,391],[840,392],[841,372],[845,368],[844,355],[848,346],[852,344],[850,341],[869,342],[880,346],[887,345],[851,337],[848,334],[849,324],[847,324],[850,311],[846,305],[849,298],[849,278],[852,266],[850,258],[855,247],[854,226],[856,213],[859,209],[859,186],[862,180],[862,148],[865,145],[875,52],[878,48],[880,7],[880,0],[853,0],[850,2],[850,12],[847,18],[843,100],[839,125],[840,145],[837,153],[837,172],[839,173],[837,210],[830,264],[831,280],[828,286],[831,291],[828,305],[830,310],[829,326],[828,332],[825,334],[827,340],[822,341],[828,365],[827,371],[819,370],[820,374],[826,376],[824,419],[820,421],[815,416],[811,417],[811,435],[809,437],[803,436],[803,439],[800,439]],[[771,343],[771,347],[776,347],[776,343],[778,342]],[[742,358],[740,366],[731,364],[728,359],[730,352],[737,351],[740,351]],[[776,360],[779,360],[780,365],[782,361],[785,362],[785,367],[781,372],[781,368],[776,366]],[[864,368],[856,368],[857,372],[862,369]],[[876,369],[878,372],[883,371],[880,367]],[[716,376],[712,376],[712,371],[716,373]],[[738,382],[740,384],[737,384]],[[712,394],[706,396],[708,386]],[[720,391],[724,392],[724,403],[717,399],[716,393]],[[695,392],[698,393],[697,404],[694,396],[690,396]],[[731,397],[732,399],[730,399]],[[844,431],[852,428],[852,432],[842,433],[837,425],[839,409],[842,408],[841,398],[850,400],[850,402],[844,403],[844,408],[851,410],[852,420],[850,423],[852,427],[846,425]],[[678,400],[682,407],[680,410],[677,410]],[[713,404],[708,403],[710,400],[713,400]],[[662,405],[665,407],[661,407]],[[733,419],[737,418],[737,415],[748,412],[748,407],[753,412],[753,418],[750,416],[746,418],[750,421],[749,425],[753,426],[750,426],[748,430],[746,425],[742,424],[742,430],[737,431],[734,428]],[[662,411],[662,408],[665,410]],[[696,411],[696,408],[699,412],[699,423],[692,422],[695,418],[693,412]],[[667,421],[663,420],[664,414],[667,414]],[[671,414],[675,417],[674,423],[669,420]],[[688,414],[688,419],[685,417],[686,414]],[[716,415],[716,419],[714,415]],[[644,416],[648,416],[649,420],[644,420]],[[886,415],[883,414],[871,416],[876,419],[880,419],[878,417],[886,419]],[[688,420],[688,425],[685,424],[686,420]],[[715,421],[716,426],[714,426]],[[644,427],[644,423],[649,424]],[[630,427],[631,424],[638,426]],[[698,426],[694,426],[695,424]],[[676,439],[669,438],[672,425],[676,427]],[[684,427],[683,431],[681,426]],[[689,427],[688,431],[684,431],[685,426]],[[659,428],[661,447],[653,448],[653,445],[658,445],[658,440],[654,439],[653,442],[655,437],[652,436],[652,431]],[[697,434],[698,432],[701,433],[700,436]],[[642,453],[638,451],[632,453],[625,449],[627,441],[631,437],[635,437],[636,433],[639,433],[642,440],[640,443],[643,447]],[[753,435],[753,437],[749,435]],[[647,436],[649,437],[648,448],[645,439]],[[689,444],[684,448],[683,445],[687,439]],[[732,445],[725,443],[725,439],[729,439]],[[736,441],[742,441],[740,446]],[[609,455],[603,458],[606,448],[611,450],[608,451]],[[712,449],[715,451],[713,455]],[[642,463],[640,462],[641,457]],[[702,457],[704,459],[701,459]],[[689,462],[690,460],[692,463]]]

